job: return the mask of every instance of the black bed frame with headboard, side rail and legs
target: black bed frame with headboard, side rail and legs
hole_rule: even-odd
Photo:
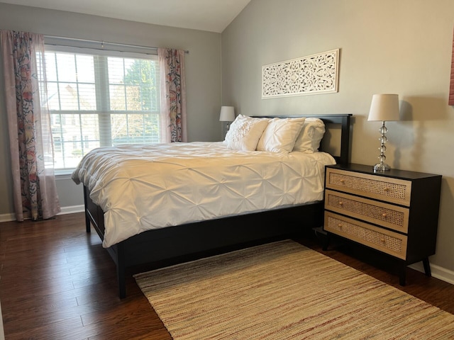
[[[298,117],[304,117],[304,115]],[[311,117],[315,116],[311,115]],[[348,163],[350,157],[350,117],[350,114],[317,116],[326,125],[327,132],[324,139],[330,136],[331,126],[341,128],[340,154],[335,156],[339,164]],[[321,145],[323,149],[323,142]],[[104,239],[104,212],[89,198],[89,190],[86,186],[84,186],[84,203],[87,232],[91,231],[91,225],[93,225],[101,240]],[[207,254],[218,254],[252,244],[292,237],[301,234],[304,230],[321,226],[322,221],[323,202],[319,201],[290,208],[153,229],[114,244],[106,250],[116,263],[119,296],[123,298],[126,297],[127,268],[166,263],[165,261],[169,260],[188,261]]]

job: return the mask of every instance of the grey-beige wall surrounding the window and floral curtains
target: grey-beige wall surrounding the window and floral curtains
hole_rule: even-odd
[[[189,50],[189,55],[186,55],[185,59],[189,141],[221,139],[221,125],[218,121],[221,106],[221,34],[219,33],[1,3],[0,29]],[[1,71],[0,79],[3,79]],[[11,200],[6,124],[4,83],[0,81],[0,216],[11,214],[14,210]],[[81,186],[76,186],[67,177],[57,179],[57,190],[63,208],[83,205]]]

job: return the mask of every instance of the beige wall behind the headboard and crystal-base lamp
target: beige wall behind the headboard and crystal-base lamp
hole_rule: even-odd
[[[352,162],[375,164],[372,94],[399,94],[387,162],[443,175],[433,267],[454,280],[453,0],[252,0],[222,33],[223,103],[245,115],[353,113]],[[261,99],[265,64],[341,49],[337,94]]]

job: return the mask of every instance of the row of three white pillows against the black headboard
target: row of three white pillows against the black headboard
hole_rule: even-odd
[[[238,115],[224,144],[229,149],[268,152],[319,151],[325,125],[319,118],[252,118]]]

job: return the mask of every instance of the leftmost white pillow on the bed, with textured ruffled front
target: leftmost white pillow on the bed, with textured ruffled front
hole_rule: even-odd
[[[247,115],[238,115],[230,125],[224,144],[229,149],[253,151],[263,130],[268,125],[268,118],[251,118]]]

